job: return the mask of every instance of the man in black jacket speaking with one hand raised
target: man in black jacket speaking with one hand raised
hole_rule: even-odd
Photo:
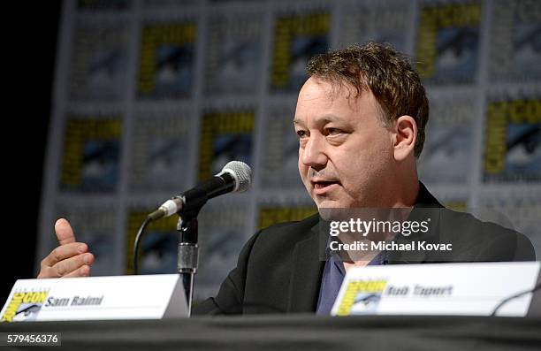
[[[441,209],[417,179],[429,106],[408,60],[371,42],[315,57],[308,72],[293,125],[301,179],[318,210]],[[194,313],[328,313],[352,266],[535,259],[530,242],[519,233],[451,211],[437,217],[433,226],[438,231],[424,237],[453,242],[450,256],[416,252],[342,262],[320,255],[327,241],[322,243],[324,221],[318,215],[270,226],[248,240],[216,298],[196,306]],[[457,228],[461,235],[454,235]],[[75,241],[65,219],[57,221],[55,231],[60,246],[42,261],[38,277],[88,275],[94,261],[88,247]],[[406,239],[399,235],[397,240]]]

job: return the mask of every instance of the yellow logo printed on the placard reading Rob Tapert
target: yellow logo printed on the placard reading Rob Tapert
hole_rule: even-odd
[[[386,285],[386,279],[353,280],[348,282],[346,294],[340,301],[337,315],[375,313]]]

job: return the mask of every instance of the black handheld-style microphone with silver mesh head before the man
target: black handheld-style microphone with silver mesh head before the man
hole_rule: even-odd
[[[227,193],[242,193],[248,190],[252,182],[252,169],[248,164],[231,161],[225,164],[221,172],[187,190],[182,195],[174,196],[164,202],[157,210],[149,214],[151,220],[169,217],[179,210],[199,210],[207,200]]]

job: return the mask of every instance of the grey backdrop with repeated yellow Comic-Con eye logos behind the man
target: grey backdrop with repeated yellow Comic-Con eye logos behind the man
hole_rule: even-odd
[[[236,159],[253,187],[200,215],[195,298],[216,294],[257,228],[316,212],[296,95],[309,57],[367,41],[406,52],[427,87],[425,184],[453,209],[494,210],[541,255],[541,2],[67,0],[36,257],[67,217],[94,275],[129,274],[146,214]],[[175,225],[149,226],[142,273],[176,271]]]

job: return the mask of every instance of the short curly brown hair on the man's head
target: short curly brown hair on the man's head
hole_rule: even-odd
[[[408,57],[390,45],[367,42],[312,57],[307,72],[309,77],[339,84],[347,82],[356,89],[357,96],[370,89],[384,112],[385,126],[400,116],[414,118],[417,124],[414,153],[415,157],[421,155],[429,103],[419,74]]]

